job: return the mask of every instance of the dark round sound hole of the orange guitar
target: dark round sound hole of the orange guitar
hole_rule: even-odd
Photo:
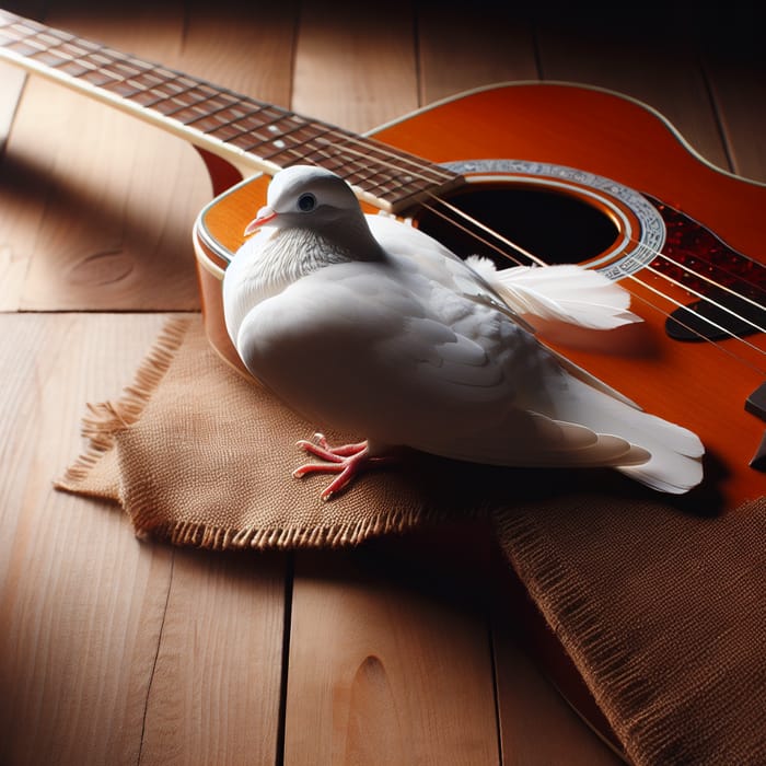
[[[589,260],[614,244],[619,233],[615,222],[597,207],[572,195],[537,187],[483,185],[451,196],[449,204],[547,264]],[[461,257],[486,256],[498,268],[514,263],[529,265],[529,258],[519,256],[459,213],[438,202],[433,207],[450,220],[423,209],[416,217],[418,228],[453,253]]]

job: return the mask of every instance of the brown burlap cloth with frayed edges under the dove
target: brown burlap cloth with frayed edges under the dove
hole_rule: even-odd
[[[227,367],[197,318],[171,322],[120,399],[90,409],[90,446],[57,486],[120,503],[141,536],[338,546],[488,515],[631,761],[766,764],[763,498],[705,518],[611,473],[414,457],[322,502],[326,476],[290,476],[312,426]]]

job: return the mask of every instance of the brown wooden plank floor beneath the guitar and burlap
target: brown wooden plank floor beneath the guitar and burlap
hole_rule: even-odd
[[[9,10],[357,131],[490,82],[591,83],[766,181],[759,33],[723,10],[104,5]],[[617,763],[469,561],[428,578],[394,543],[172,549],[54,490],[85,403],[119,394],[170,312],[198,310],[190,228],[210,189],[177,138],[5,66],[0,146],[0,764]]]

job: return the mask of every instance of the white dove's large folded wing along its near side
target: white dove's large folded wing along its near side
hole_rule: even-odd
[[[508,465],[647,460],[547,417],[560,368],[504,314],[433,276],[396,259],[325,267],[255,306],[237,349],[293,409],[373,443]]]

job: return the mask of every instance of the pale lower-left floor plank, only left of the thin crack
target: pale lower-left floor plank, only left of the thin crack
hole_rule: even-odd
[[[51,486],[161,324],[0,315],[0,762],[135,764],[171,553]]]

